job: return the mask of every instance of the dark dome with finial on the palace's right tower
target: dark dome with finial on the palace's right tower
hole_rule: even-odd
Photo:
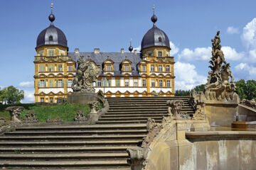
[[[154,9],[153,7],[153,11]],[[154,12],[153,16],[151,16],[151,21],[153,22],[153,27],[146,32],[142,39],[142,52],[146,49],[151,49],[151,47],[164,47],[168,51],[171,50],[168,36],[163,30],[156,27],[157,17]]]

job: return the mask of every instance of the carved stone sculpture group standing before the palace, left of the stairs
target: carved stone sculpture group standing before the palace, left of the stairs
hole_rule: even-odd
[[[78,70],[73,79],[73,91],[81,91],[88,93],[95,93],[93,82],[100,76],[102,68],[100,65],[95,64],[92,60],[85,62],[85,58],[81,56],[78,59]]]

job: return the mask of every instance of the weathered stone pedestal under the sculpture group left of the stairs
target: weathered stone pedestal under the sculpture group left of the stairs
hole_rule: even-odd
[[[92,104],[97,101],[96,94],[74,91],[68,95],[68,103]]]

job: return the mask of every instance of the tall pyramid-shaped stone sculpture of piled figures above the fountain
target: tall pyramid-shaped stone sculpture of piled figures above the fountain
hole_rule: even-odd
[[[234,77],[230,71],[230,64],[225,62],[225,57],[220,45],[220,31],[217,32],[212,42],[212,57],[210,69],[205,86],[205,94],[208,99],[227,100],[233,99],[235,91]]]

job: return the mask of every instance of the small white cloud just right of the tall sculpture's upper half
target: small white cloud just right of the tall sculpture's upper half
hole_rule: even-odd
[[[223,54],[225,59],[227,60],[240,60],[242,57],[245,56],[245,52],[237,52],[235,48],[224,46],[221,48],[223,50]]]

